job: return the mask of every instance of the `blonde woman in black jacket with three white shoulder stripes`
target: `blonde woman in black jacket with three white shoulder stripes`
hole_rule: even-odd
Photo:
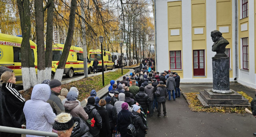
[[[6,71],[1,75],[2,89],[0,91],[0,126],[21,128],[26,122],[23,114],[25,99],[15,89],[14,73]],[[21,134],[0,132],[0,136],[20,137]]]

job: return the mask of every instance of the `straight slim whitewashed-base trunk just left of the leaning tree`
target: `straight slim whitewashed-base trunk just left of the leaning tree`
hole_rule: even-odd
[[[51,80],[52,74],[52,41],[53,41],[53,0],[48,0],[47,26],[46,26],[46,46],[45,46],[45,79]]]

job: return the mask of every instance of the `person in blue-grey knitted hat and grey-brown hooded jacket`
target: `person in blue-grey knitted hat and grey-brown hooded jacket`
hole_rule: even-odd
[[[70,113],[73,117],[83,118],[84,121],[87,121],[88,114],[84,111],[84,108],[78,105],[77,94],[75,91],[70,91],[67,94],[67,100],[64,104],[65,110],[67,113]]]

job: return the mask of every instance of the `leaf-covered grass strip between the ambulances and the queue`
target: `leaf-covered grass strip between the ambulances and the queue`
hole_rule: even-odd
[[[129,72],[129,69],[123,69],[123,75]],[[104,73],[104,83],[107,86],[110,80],[116,80],[123,76],[121,73],[121,69],[118,69],[115,72],[107,72]],[[102,85],[102,75],[92,76],[88,78],[84,78],[78,81],[74,81],[65,85],[62,85],[62,88],[66,88],[69,90],[72,86],[76,87],[79,91],[78,100],[82,101],[84,98],[90,96],[91,90],[99,91],[105,86]]]

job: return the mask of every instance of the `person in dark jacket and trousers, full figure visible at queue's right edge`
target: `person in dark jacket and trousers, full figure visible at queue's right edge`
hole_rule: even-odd
[[[156,96],[157,96],[157,102],[158,102],[158,117],[161,117],[161,105],[163,104],[163,112],[164,116],[166,117],[166,107],[165,107],[165,102],[166,102],[166,97],[168,96],[166,86],[164,82],[159,81],[159,85],[157,86],[156,89]]]

